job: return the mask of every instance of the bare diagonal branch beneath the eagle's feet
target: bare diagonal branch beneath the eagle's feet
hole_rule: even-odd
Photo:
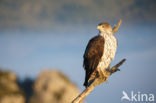
[[[117,72],[117,71],[119,70],[118,68],[119,68],[125,61],[126,61],[126,59],[123,59],[123,60],[121,60],[118,64],[116,64],[115,66],[113,66],[113,67],[111,68],[111,70],[108,71],[108,77],[109,77],[111,74]],[[103,78],[97,77],[97,78],[95,78],[94,81],[93,81],[81,94],[79,94],[79,95],[72,101],[72,103],[80,103],[85,97],[87,97],[87,96],[90,94],[90,92],[93,91],[93,89],[94,89],[97,85],[99,85],[99,84],[105,82],[105,81],[107,80],[108,77],[103,77]]]

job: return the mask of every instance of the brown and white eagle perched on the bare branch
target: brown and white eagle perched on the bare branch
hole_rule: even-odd
[[[97,29],[99,34],[89,40],[83,55],[83,67],[86,72],[83,85],[86,88],[96,75],[107,77],[105,72],[110,70],[110,63],[117,49],[117,39],[113,35],[114,29],[111,25],[102,22],[98,24]]]

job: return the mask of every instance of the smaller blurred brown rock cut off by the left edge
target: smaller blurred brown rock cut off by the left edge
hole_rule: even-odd
[[[17,77],[12,72],[0,70],[0,103],[25,103],[17,85]]]

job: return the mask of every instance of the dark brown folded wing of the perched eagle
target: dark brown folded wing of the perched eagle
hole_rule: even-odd
[[[92,38],[85,50],[83,66],[86,71],[84,86],[88,85],[88,79],[97,68],[98,63],[103,55],[104,38],[102,36],[95,36]]]

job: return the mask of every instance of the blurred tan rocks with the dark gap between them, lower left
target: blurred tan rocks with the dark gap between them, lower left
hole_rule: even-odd
[[[78,94],[78,88],[57,70],[44,70],[36,80],[19,80],[0,70],[0,103],[70,103]]]

